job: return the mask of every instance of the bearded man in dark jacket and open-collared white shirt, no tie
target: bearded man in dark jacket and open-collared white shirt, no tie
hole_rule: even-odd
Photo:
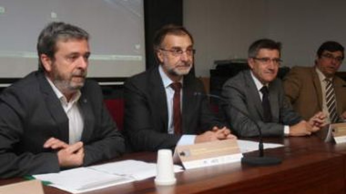
[[[38,37],[39,70],[0,95],[0,176],[54,173],[110,159],[124,138],[85,80],[90,55],[83,29],[50,23]]]

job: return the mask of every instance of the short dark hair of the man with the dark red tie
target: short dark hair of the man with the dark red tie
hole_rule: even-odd
[[[193,43],[192,35],[188,30],[186,30],[186,28],[175,25],[175,24],[168,24],[163,26],[161,29],[157,30],[155,33],[154,41],[153,41],[153,49],[155,52],[161,48],[161,44],[163,40],[165,39],[166,35],[176,35],[176,36],[188,35],[191,39],[191,42]]]

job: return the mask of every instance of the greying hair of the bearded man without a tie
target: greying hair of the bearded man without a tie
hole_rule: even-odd
[[[51,22],[40,33],[37,40],[38,69],[44,70],[40,56],[47,55],[54,59],[57,51],[58,40],[89,40],[89,34],[85,30],[64,22]]]

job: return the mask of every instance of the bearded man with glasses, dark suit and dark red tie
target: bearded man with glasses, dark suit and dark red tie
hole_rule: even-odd
[[[157,151],[235,138],[211,112],[206,96],[195,95],[204,94],[204,89],[189,73],[194,54],[190,33],[165,26],[156,33],[154,50],[160,65],[125,83],[124,129],[132,148]]]

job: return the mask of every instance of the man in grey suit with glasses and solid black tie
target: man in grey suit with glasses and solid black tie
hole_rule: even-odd
[[[306,122],[291,108],[281,81],[276,78],[280,55],[280,42],[270,39],[255,41],[248,50],[250,69],[239,72],[224,84],[222,96],[232,106],[223,104],[222,108],[237,136],[258,136],[259,129],[254,122],[264,137],[305,136],[324,125],[322,113]]]

